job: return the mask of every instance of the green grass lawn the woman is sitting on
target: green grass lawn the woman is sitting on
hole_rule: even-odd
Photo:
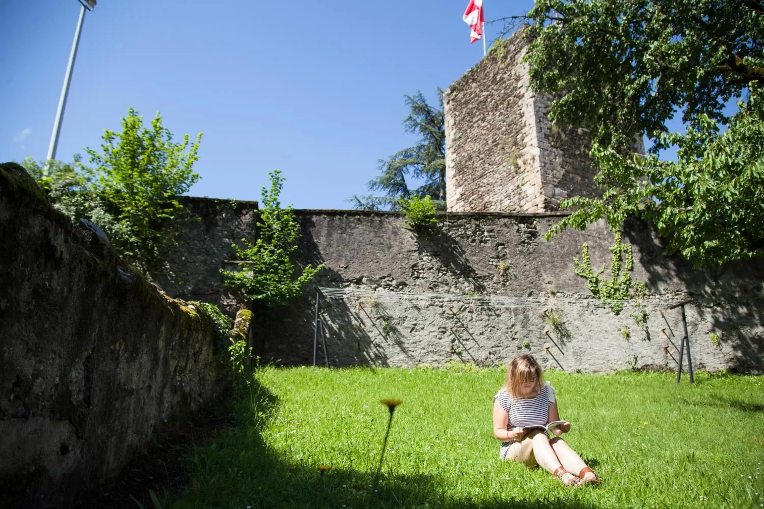
[[[265,368],[239,427],[189,451],[174,507],[762,507],[764,378],[548,372],[565,437],[603,478],[498,459],[503,370]],[[378,483],[387,427],[397,408]],[[325,473],[319,465],[329,466]],[[376,488],[376,489],[375,489]],[[166,504],[173,507],[173,504]]]

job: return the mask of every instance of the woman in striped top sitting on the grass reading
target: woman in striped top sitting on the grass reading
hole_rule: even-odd
[[[528,468],[540,465],[566,486],[600,482],[562,438],[550,440],[544,430],[523,431],[523,427],[546,426],[559,418],[555,389],[543,383],[539,363],[528,354],[516,356],[507,367],[507,382],[494,396],[494,437],[502,441],[500,459],[522,462]],[[570,428],[565,421],[552,433],[561,435]]]

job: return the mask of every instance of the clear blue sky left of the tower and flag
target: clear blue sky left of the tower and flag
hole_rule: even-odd
[[[403,95],[435,101],[482,57],[468,0],[99,0],[86,15],[57,159],[99,147],[128,108],[180,138],[203,132],[190,195],[257,200],[267,172],[283,202],[348,208],[377,159],[416,140]],[[486,19],[532,1],[486,0]],[[0,2],[0,161],[44,159],[79,16],[76,0]],[[495,25],[494,25],[495,26]],[[487,41],[496,37],[489,27]]]

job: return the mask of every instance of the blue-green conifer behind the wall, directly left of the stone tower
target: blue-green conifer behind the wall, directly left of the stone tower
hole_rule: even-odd
[[[368,183],[370,191],[384,192],[384,196],[358,196],[348,199],[354,208],[378,210],[401,209],[401,198],[413,195],[431,197],[438,205],[445,203],[445,130],[443,120],[443,91],[437,89],[439,108],[427,104],[422,92],[404,95],[409,116],[403,120],[406,132],[419,134],[419,142],[380,159],[381,175]],[[410,189],[406,177],[424,180],[416,189]]]

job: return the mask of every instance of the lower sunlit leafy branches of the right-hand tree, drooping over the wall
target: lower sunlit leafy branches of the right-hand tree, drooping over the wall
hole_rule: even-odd
[[[727,130],[708,118],[685,134],[664,135],[678,147],[676,163],[656,155],[621,156],[598,144],[592,155],[598,179],[613,182],[601,200],[562,203],[575,212],[555,224],[583,229],[602,217],[617,230],[626,215],[655,224],[669,253],[696,266],[764,255],[764,105],[759,92],[741,103]]]

